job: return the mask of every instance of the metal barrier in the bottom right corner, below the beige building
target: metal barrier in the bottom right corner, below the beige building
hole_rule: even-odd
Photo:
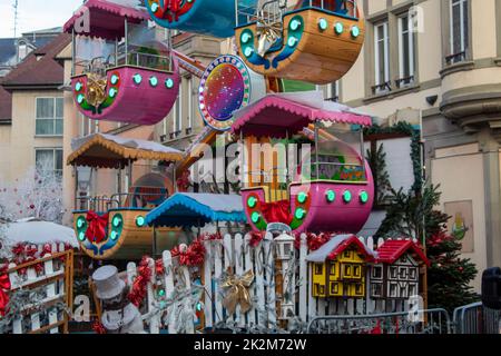
[[[455,334],[501,334],[501,310],[489,309],[481,301],[454,309]]]

